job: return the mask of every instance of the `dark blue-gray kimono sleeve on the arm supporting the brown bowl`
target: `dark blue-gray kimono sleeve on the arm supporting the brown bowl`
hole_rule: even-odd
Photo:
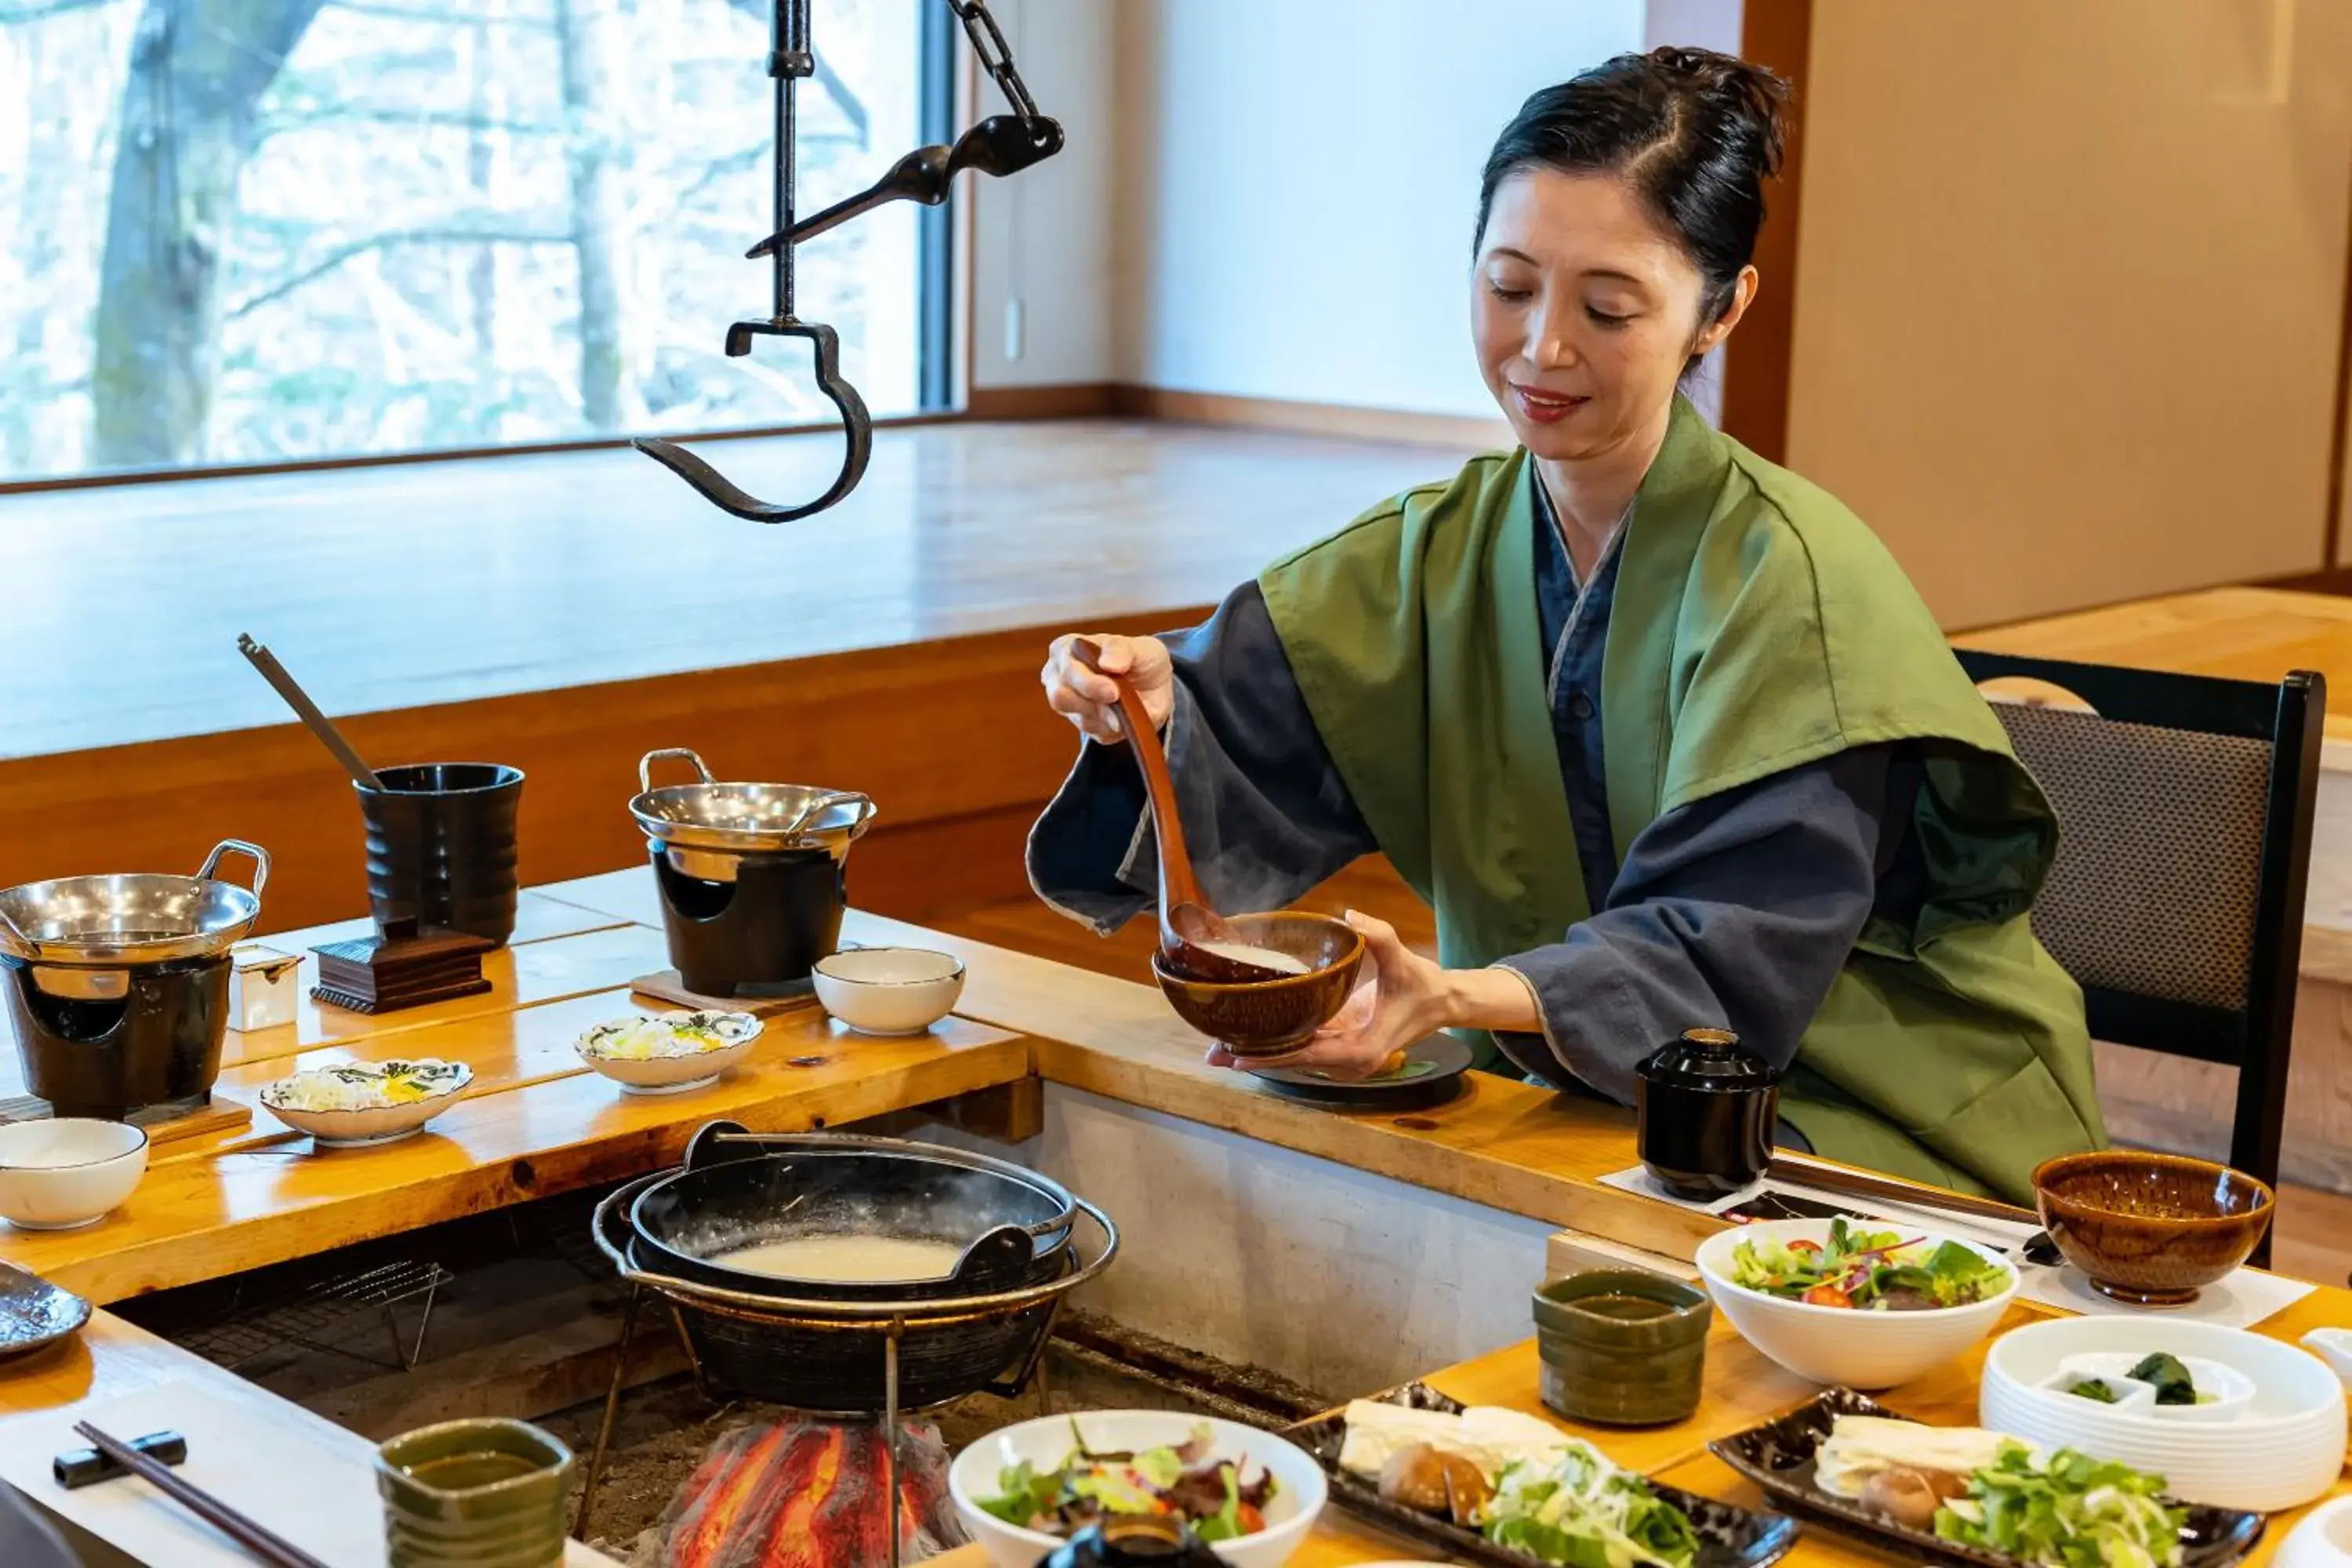
[[[1635,1065],[1691,1027],[1729,1027],[1788,1067],[1870,919],[1900,837],[1882,823],[1907,820],[1915,788],[1915,764],[1867,745],[1668,811],[1628,849],[1609,907],[1501,961],[1534,990],[1543,1037],[1498,1044],[1625,1105]]]

